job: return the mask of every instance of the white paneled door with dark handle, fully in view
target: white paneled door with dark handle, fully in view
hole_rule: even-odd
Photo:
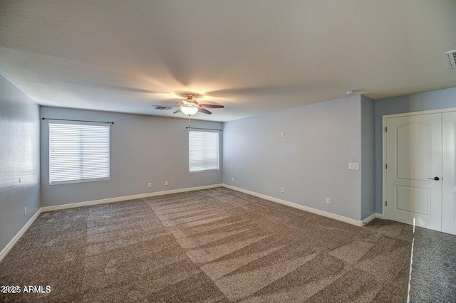
[[[442,114],[391,117],[386,127],[386,218],[442,230]]]

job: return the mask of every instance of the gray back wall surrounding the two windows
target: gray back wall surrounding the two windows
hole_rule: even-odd
[[[43,206],[222,183],[222,171],[188,172],[188,119],[58,107],[41,107],[40,115],[115,123],[110,129],[109,181],[49,185],[48,121],[41,121]],[[221,129],[222,123],[192,120],[192,127]],[[222,147],[220,160],[222,168]],[[152,182],[152,188],[147,188],[148,182]]]

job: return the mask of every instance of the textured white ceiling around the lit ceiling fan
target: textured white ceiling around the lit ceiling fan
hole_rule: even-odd
[[[227,121],[456,86],[455,0],[0,1],[0,73],[40,105]],[[178,114],[181,115],[182,114]]]

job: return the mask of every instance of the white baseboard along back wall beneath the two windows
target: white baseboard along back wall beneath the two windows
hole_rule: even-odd
[[[90,205],[97,205],[97,204],[104,204],[104,203],[128,201],[128,200],[134,200],[134,199],[140,199],[140,198],[169,195],[171,193],[184,193],[186,191],[200,191],[202,189],[215,188],[215,187],[220,187],[220,186],[222,186],[222,184],[212,184],[212,185],[205,185],[205,186],[172,189],[170,191],[155,191],[154,193],[140,193],[139,195],[132,195],[132,196],[123,196],[123,197],[107,198],[107,199],[100,199],[100,200],[93,200],[93,201],[68,203],[68,204],[61,204],[61,205],[56,205],[56,206],[43,206],[41,208],[41,212],[45,213],[48,211],[58,211],[58,210],[67,209],[67,208],[75,208],[75,207],[90,206]]]

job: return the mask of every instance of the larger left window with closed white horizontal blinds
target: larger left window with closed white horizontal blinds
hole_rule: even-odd
[[[49,121],[49,184],[109,180],[110,124]]]

